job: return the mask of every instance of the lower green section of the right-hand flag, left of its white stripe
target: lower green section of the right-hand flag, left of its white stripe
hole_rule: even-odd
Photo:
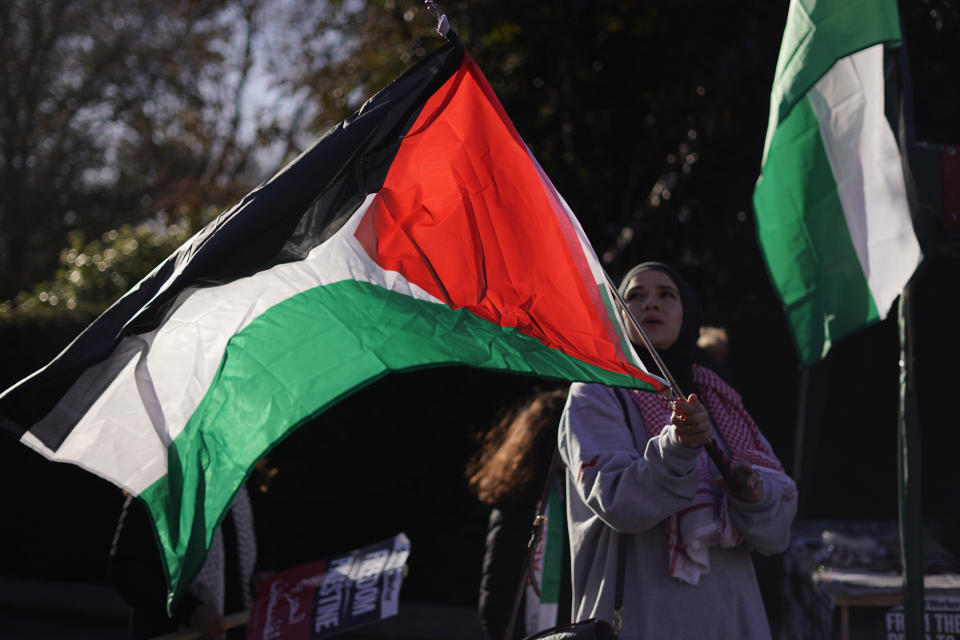
[[[803,364],[880,319],[809,100],[777,129],[753,203],[760,247]]]

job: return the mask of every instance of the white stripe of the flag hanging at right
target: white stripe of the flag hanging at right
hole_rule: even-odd
[[[886,317],[920,262],[920,245],[900,151],[883,110],[883,45],[838,60],[808,96],[857,258]]]

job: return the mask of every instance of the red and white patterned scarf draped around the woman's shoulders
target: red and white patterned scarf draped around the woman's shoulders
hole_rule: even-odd
[[[700,365],[693,365],[693,381],[714,429],[723,436],[731,462],[749,462],[783,473],[783,465],[760,435],[740,394],[716,373]],[[655,393],[636,390],[628,393],[640,409],[649,436],[660,435],[670,424],[669,403]],[[711,485],[710,459],[706,452],[700,454],[698,463],[700,484],[693,503],[666,521],[670,575],[690,584],[699,583],[700,576],[710,571],[710,547],[735,547],[743,540],[727,516],[727,494]]]

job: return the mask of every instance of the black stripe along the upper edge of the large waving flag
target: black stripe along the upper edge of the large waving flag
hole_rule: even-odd
[[[184,288],[223,284],[303,259],[343,225],[366,194],[380,189],[423,104],[462,58],[463,47],[454,38],[207,225],[194,238],[191,252],[178,251],[167,258],[50,364],[8,389],[0,397],[0,425],[17,437],[30,430],[56,450],[73,423],[31,427],[53,409],[84,369],[106,359],[121,337],[154,329]],[[176,274],[178,260],[185,264]]]

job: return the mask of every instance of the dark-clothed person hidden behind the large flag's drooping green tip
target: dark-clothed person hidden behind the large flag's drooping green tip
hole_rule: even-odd
[[[110,550],[109,573],[120,596],[130,605],[130,637],[153,638],[178,629],[202,637],[246,638],[242,627],[226,629],[225,615],[253,604],[257,540],[246,487],[240,487],[220,526],[214,531],[199,574],[166,612],[166,579],[146,507],[128,495]]]

